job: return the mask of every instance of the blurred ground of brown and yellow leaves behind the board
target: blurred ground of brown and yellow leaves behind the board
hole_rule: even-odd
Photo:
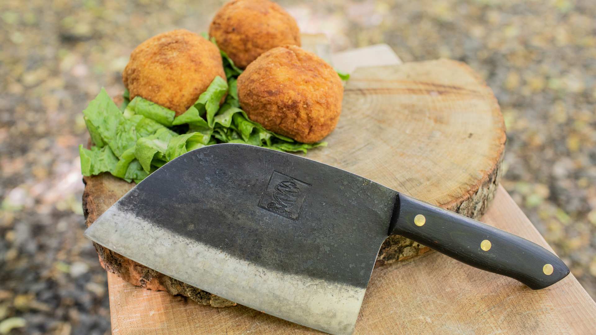
[[[105,271],[82,236],[81,111],[102,86],[123,91],[136,45],[206,31],[224,2],[0,0],[0,333],[111,333]],[[278,3],[334,52],[386,43],[403,61],[480,73],[507,125],[502,185],[596,298],[595,1]]]

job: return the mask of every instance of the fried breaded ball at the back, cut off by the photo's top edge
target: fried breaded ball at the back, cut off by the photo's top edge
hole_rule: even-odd
[[[234,0],[219,10],[209,26],[219,48],[245,69],[260,54],[276,46],[300,46],[296,20],[268,0]]]

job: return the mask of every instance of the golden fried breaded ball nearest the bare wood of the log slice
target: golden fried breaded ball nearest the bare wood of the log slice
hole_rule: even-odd
[[[269,131],[314,143],[336,127],[343,86],[317,55],[285,45],[263,53],[238,76],[238,98],[247,116]]]

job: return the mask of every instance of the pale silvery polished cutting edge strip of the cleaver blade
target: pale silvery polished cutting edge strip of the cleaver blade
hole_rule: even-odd
[[[85,236],[201,290],[334,335],[352,334],[366,291],[234,258],[122,211],[117,203]]]

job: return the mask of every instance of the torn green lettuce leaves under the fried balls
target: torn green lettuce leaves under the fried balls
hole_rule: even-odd
[[[211,41],[215,44],[215,39]],[[224,51],[221,55],[227,80],[215,77],[193,106],[177,117],[173,110],[144,98],[130,100],[128,90],[119,108],[102,88],[83,110],[94,144],[90,150],[79,146],[83,175],[110,172],[128,182],[140,182],[170,160],[217,143],[244,143],[305,154],[310,148],[327,145],[296,142],[250,120],[238,101],[236,77],[242,70]]]

